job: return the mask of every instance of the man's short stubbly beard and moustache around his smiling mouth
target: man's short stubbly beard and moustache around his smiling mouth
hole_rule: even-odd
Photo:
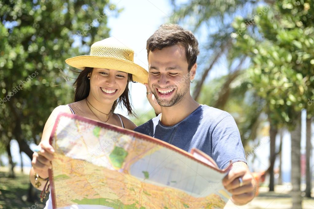
[[[170,100],[169,99],[166,100],[166,99],[163,99],[163,95],[159,96],[159,94],[156,91],[156,88],[154,86],[152,86],[152,87],[153,87],[152,89],[154,89],[153,94],[154,94],[158,104],[162,107],[172,107],[172,106],[178,104],[182,100],[182,98],[185,96],[187,91],[189,90],[189,88],[187,86],[184,86],[184,88],[181,91],[178,91],[178,88],[176,88],[177,92],[175,93],[175,95]],[[167,89],[171,89],[171,88],[167,88]]]

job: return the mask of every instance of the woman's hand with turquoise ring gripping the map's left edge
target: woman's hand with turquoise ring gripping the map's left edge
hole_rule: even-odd
[[[38,152],[33,153],[32,166],[34,171],[43,179],[49,176],[48,169],[52,169],[51,161],[55,150],[48,141],[41,141]]]

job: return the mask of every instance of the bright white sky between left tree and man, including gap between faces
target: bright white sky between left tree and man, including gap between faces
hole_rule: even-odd
[[[117,18],[108,14],[110,36],[116,38],[134,50],[134,62],[148,70],[146,40],[171,15],[169,0],[149,1],[113,0],[116,8],[124,8]],[[146,87],[140,83],[131,83],[131,97],[135,112],[146,112],[152,108],[146,99]],[[127,115],[127,111],[116,110]]]

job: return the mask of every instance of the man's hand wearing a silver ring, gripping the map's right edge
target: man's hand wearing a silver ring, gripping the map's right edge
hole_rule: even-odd
[[[239,178],[242,179],[241,186]],[[254,198],[257,184],[245,162],[233,163],[222,183],[232,194],[231,201],[236,205],[245,205]]]

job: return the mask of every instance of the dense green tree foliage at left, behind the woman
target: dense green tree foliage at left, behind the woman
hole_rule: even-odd
[[[117,13],[100,0],[0,1],[1,135],[39,142],[51,111],[73,100],[64,60],[107,38]]]

